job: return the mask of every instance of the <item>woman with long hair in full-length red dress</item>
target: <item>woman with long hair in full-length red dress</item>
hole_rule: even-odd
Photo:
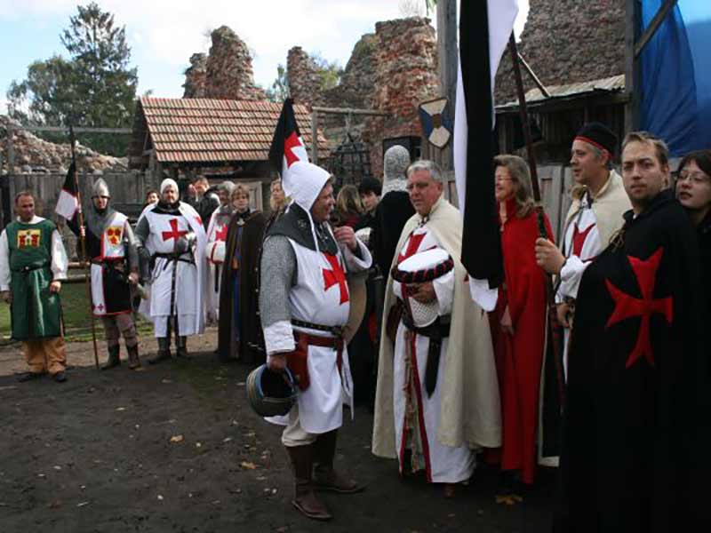
[[[534,253],[539,225],[528,165],[516,155],[499,155],[494,167],[505,284],[490,314],[502,411],[501,449],[490,455],[500,460],[501,470],[514,474],[515,481],[530,485],[536,471],[546,278]],[[547,217],[545,224],[552,241]]]

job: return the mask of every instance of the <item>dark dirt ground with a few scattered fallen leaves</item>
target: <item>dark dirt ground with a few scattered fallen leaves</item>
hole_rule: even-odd
[[[155,352],[144,339],[141,354]],[[324,495],[334,520],[302,518],[280,429],[250,410],[250,369],[223,365],[215,330],[190,338],[188,361],[98,372],[91,343],[68,346],[68,381],[18,383],[19,346],[0,351],[0,531],[476,531],[550,530],[555,473],[522,504],[495,501],[498,474],[477,470],[452,499],[401,479],[371,455],[372,416],[344,414],[336,464],[367,489]],[[122,354],[125,357],[125,354]],[[100,342],[100,359],[106,358]]]

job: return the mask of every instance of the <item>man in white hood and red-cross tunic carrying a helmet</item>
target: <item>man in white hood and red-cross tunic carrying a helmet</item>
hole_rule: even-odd
[[[292,460],[292,504],[309,518],[332,516],[315,489],[362,487],[333,470],[343,401],[353,402],[348,354],[340,331],[348,321],[346,274],[371,266],[371,254],[350,227],[328,225],[335,203],[331,175],[292,163],[284,176],[292,203],[269,228],[261,259],[260,316],[271,370],[289,364],[299,378],[298,402],[284,418],[282,442]],[[312,466],[316,472],[312,479]]]

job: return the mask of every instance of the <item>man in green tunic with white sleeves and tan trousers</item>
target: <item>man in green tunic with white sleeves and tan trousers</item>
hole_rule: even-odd
[[[22,341],[29,372],[19,381],[49,372],[67,379],[60,280],[67,279],[67,252],[52,220],[35,215],[35,197],[15,196],[18,219],[0,235],[0,295],[10,304],[12,338]]]

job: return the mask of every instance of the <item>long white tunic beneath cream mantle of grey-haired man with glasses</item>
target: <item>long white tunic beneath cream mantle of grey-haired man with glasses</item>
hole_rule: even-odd
[[[426,251],[434,247],[442,248],[440,243],[437,243],[435,235],[429,232],[427,227],[418,227],[411,233],[403,249],[399,252],[398,262],[418,251]],[[454,271],[437,278],[433,285],[439,314],[441,316],[451,314],[454,299]],[[397,298],[403,298],[402,285],[399,282],[393,282],[393,291]],[[408,342],[406,332],[407,328],[401,322],[395,338],[395,360],[393,362],[395,443],[398,448],[400,470],[402,472],[403,468],[408,467],[408,465],[403,465],[405,449],[415,448],[417,451],[413,450],[413,455],[417,457],[413,457],[412,465],[417,470],[425,469],[427,481],[437,483],[465,481],[474,473],[475,456],[472,451],[466,445],[453,448],[444,446],[437,440],[449,341],[447,338],[443,339],[435,391],[432,396],[427,396],[425,370],[427,368],[429,338],[414,334],[411,346],[406,346]],[[411,361],[408,361],[408,348],[411,352]],[[410,364],[414,380],[412,387],[408,385]],[[408,402],[416,402],[416,405]],[[414,417],[407,416],[408,410],[413,408],[417,412],[415,426],[411,426]],[[419,442],[417,446],[412,446],[413,439]],[[420,452],[421,457],[419,457]]]

